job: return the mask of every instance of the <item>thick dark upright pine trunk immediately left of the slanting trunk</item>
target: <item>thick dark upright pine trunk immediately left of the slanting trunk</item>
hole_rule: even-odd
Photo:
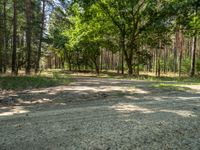
[[[26,74],[30,75],[30,73],[31,73],[31,54],[32,54],[31,0],[25,0],[25,13],[26,13],[26,50],[27,50]]]

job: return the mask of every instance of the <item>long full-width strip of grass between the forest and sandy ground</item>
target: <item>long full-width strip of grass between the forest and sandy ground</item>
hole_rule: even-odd
[[[139,77],[117,74],[116,72],[102,72],[99,76],[95,72],[68,72],[62,70],[47,70],[42,72],[40,76],[0,76],[0,89],[3,90],[24,90],[32,88],[45,88],[57,85],[67,85],[70,78],[73,77],[97,77],[97,78],[111,78],[111,79],[129,79],[129,80],[146,80],[156,81],[154,87],[170,88],[174,90],[181,90],[180,85],[199,85],[200,78],[190,78],[187,76],[179,78],[177,75],[168,74],[162,77],[155,77],[153,74],[146,74],[141,72]],[[162,84],[162,82],[172,82],[172,84]],[[177,85],[175,85],[177,84]],[[183,87],[182,87],[183,90]]]

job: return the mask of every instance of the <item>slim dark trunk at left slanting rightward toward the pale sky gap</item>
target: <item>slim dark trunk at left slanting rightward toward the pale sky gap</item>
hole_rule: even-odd
[[[40,27],[40,39],[39,39],[39,47],[38,47],[38,52],[37,52],[37,61],[36,61],[35,73],[38,73],[39,68],[40,68],[42,38],[43,38],[43,31],[44,31],[44,20],[45,20],[45,0],[42,0],[42,17],[41,17],[41,27]]]

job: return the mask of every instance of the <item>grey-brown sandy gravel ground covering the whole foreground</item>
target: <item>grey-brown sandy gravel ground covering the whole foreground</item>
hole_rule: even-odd
[[[1,91],[0,150],[200,150],[200,87],[76,78]]]

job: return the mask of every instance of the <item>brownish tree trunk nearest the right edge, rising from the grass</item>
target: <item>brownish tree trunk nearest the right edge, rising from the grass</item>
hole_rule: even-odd
[[[191,72],[190,77],[194,77],[195,75],[195,64],[196,64],[196,44],[197,43],[197,37],[193,37],[192,41],[192,57],[191,57]]]

